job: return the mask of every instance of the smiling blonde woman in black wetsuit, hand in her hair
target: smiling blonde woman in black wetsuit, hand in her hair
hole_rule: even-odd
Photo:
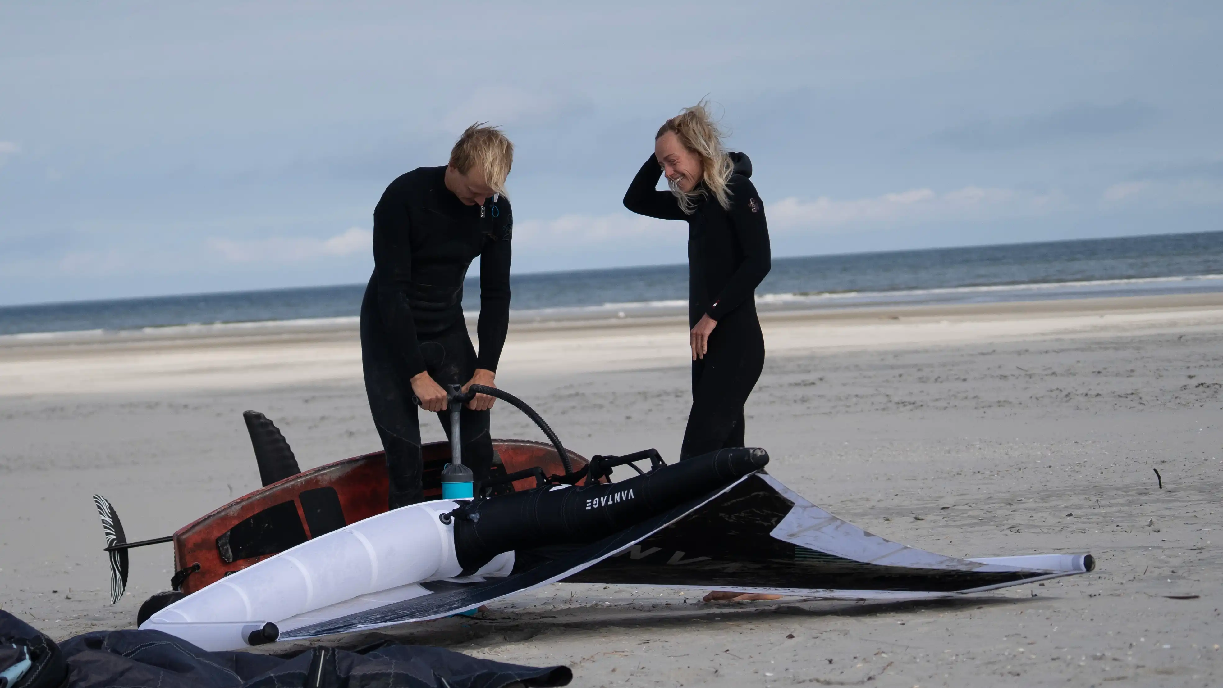
[[[667,175],[671,191],[656,191]],[[680,459],[744,446],[744,403],[764,367],[756,286],[769,270],[751,160],[724,153],[704,103],[667,120],[624,196],[629,210],[689,224],[692,411]]]

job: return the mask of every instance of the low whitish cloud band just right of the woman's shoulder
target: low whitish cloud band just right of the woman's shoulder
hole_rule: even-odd
[[[777,231],[827,231],[879,224],[972,220],[1031,215],[1062,204],[1059,194],[1033,194],[1008,188],[966,186],[945,193],[915,188],[871,198],[815,200],[783,198],[768,205],[769,227]]]

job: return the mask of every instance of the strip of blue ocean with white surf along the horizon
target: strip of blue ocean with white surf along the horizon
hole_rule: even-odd
[[[356,318],[364,285],[0,308],[0,335]],[[687,265],[512,276],[515,319],[682,313]],[[762,309],[1223,291],[1223,232],[775,258]],[[479,308],[467,280],[464,307]]]

